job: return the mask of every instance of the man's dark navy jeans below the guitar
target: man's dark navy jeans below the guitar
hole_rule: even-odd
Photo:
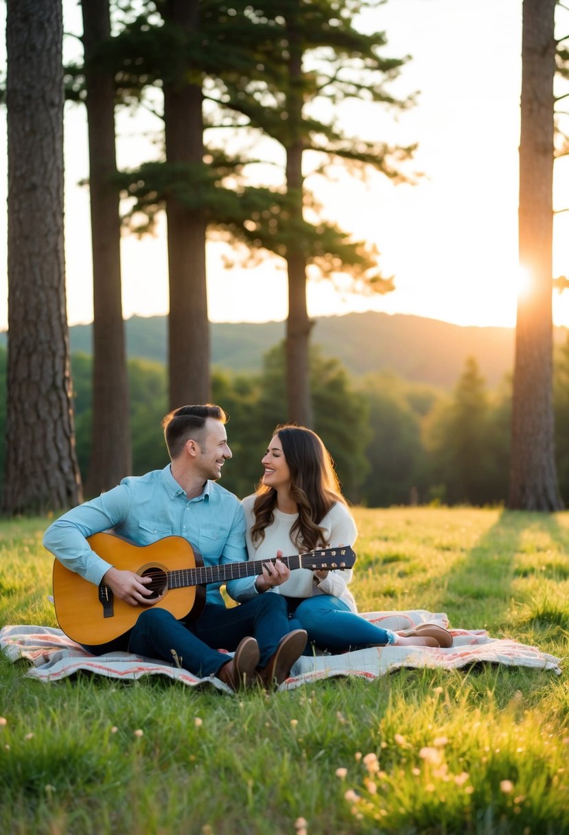
[[[184,667],[200,678],[211,676],[230,659],[224,650],[236,650],[239,641],[253,635],[259,644],[259,666],[264,667],[288,635],[290,620],[286,600],[280,595],[259,595],[246,603],[226,609],[210,604],[199,620],[176,620],[165,609],[145,609],[133,629],[103,645],[85,645],[93,655],[128,650]]]

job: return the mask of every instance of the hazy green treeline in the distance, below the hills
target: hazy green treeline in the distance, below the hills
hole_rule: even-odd
[[[72,357],[78,461],[83,481],[90,453],[91,371],[87,354]],[[168,462],[160,422],[167,411],[163,365],[128,362],[133,430],[133,473]],[[392,373],[350,376],[336,359],[311,357],[315,430],[335,459],[346,496],[355,504],[497,504],[506,498],[511,387],[507,378],[489,391],[474,357],[452,392],[409,382]],[[0,347],[0,426],[5,429],[6,349]],[[229,412],[233,459],[224,466],[224,487],[251,493],[260,459],[283,420],[282,347],[264,354],[259,373],[215,370],[214,402]],[[569,340],[556,350],[556,455],[561,495],[569,498]],[[5,433],[3,432],[3,437]],[[0,455],[3,474],[5,449]]]

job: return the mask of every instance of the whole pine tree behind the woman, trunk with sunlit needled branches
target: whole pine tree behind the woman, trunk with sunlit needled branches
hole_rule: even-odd
[[[227,89],[224,104],[244,114],[251,126],[276,140],[285,152],[280,200],[253,215],[253,223],[246,228],[251,242],[260,242],[283,256],[287,264],[289,418],[309,426],[314,418],[308,362],[311,322],[306,307],[307,266],[315,264],[324,276],[351,274],[367,289],[380,293],[392,290],[393,283],[381,276],[375,250],[351,241],[321,215],[317,223],[306,220],[306,210],[319,213],[305,187],[304,154],[308,150],[321,154],[326,159],[322,170],[330,159],[340,159],[351,170],[372,167],[401,181],[405,177],[397,165],[413,150],[366,140],[361,124],[351,135],[335,124],[336,106],[346,99],[365,99],[398,109],[410,104],[410,99],[395,99],[386,89],[405,59],[380,57],[385,35],[367,35],[355,28],[357,15],[366,5],[358,0],[265,0],[261,8],[254,9],[247,3],[236,4],[243,18],[253,23],[253,31],[259,30],[254,42],[260,63],[254,73],[222,75]],[[318,105],[325,102],[332,105],[329,119],[318,115]]]

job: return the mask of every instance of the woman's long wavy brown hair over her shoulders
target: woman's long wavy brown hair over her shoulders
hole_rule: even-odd
[[[290,469],[290,496],[299,509],[299,516],[290,531],[297,549],[322,547],[324,532],[320,522],[336,502],[346,504],[334,462],[315,432],[304,426],[280,424],[275,430],[283,447],[284,459]],[[263,483],[257,485],[254,501],[254,525],[251,539],[262,542],[264,529],[274,521],[277,493]]]

